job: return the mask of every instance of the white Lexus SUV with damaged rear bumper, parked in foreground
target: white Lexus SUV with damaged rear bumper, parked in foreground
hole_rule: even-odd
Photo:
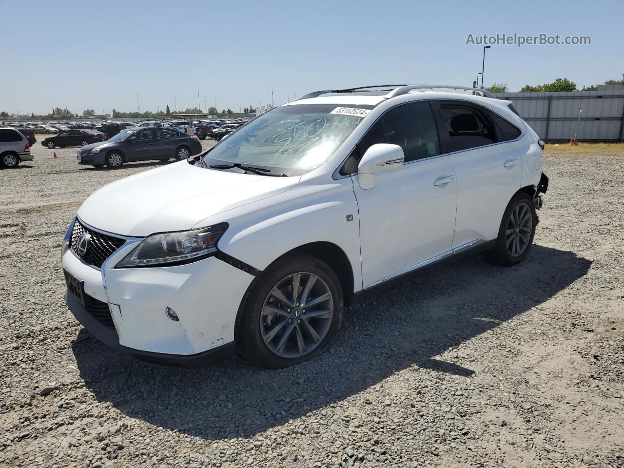
[[[483,90],[313,92],[87,198],[64,240],[67,305],[152,362],[300,363],[398,278],[466,251],[522,261],[542,149]]]

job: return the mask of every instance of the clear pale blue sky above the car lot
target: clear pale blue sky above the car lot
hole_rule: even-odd
[[[472,6],[469,6],[472,5]],[[311,90],[384,83],[472,85],[468,34],[591,36],[590,46],[495,45],[485,85],[517,91],[624,73],[624,2],[0,0],[0,110],[219,110]],[[12,19],[6,21],[6,19]],[[8,50],[7,50],[8,48]],[[10,52],[9,52],[10,50]]]

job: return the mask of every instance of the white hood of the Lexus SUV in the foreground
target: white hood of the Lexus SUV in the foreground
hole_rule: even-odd
[[[287,192],[299,180],[206,169],[183,161],[105,185],[82,203],[78,216],[94,228],[125,236],[182,231],[217,213]]]

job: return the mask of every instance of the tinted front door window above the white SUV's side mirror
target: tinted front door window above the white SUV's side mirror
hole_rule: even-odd
[[[399,145],[406,162],[440,154],[436,122],[429,102],[413,102],[388,110],[360,142],[359,157],[378,143]]]

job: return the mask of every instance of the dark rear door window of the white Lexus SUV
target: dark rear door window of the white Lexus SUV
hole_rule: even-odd
[[[443,131],[449,136],[449,152],[497,142],[494,124],[485,109],[470,105],[441,104],[440,112]]]

